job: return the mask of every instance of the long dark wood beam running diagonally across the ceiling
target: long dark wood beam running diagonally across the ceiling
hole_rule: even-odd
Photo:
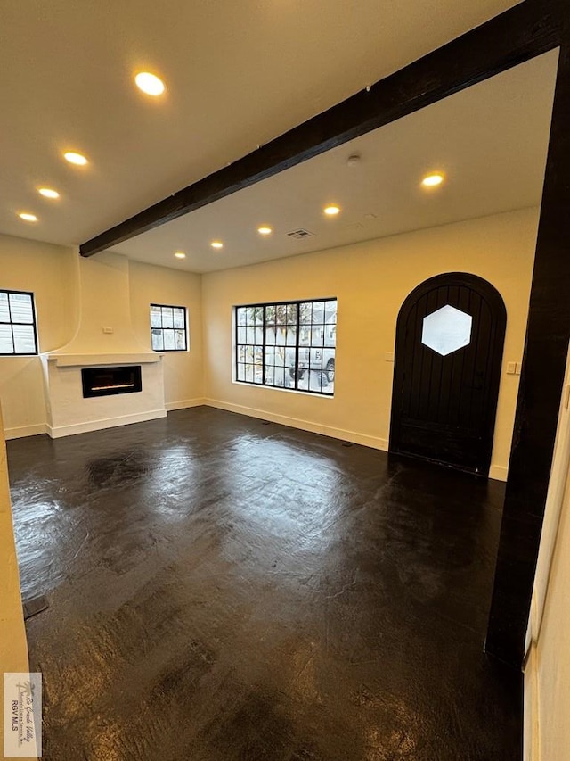
[[[551,50],[560,42],[560,5],[525,0],[381,79],[370,92],[353,95],[86,241],[81,255],[93,256]]]

